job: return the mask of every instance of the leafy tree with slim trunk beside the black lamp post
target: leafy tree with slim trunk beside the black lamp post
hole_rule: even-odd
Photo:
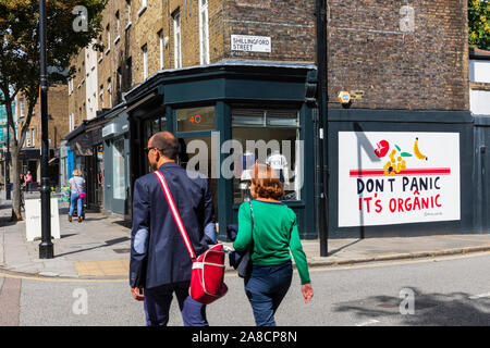
[[[50,84],[65,83],[74,71],[69,70],[70,59],[81,49],[87,47],[97,38],[101,30],[101,12],[108,0],[47,0],[47,65]],[[74,29],[74,22],[79,12],[74,9],[83,7],[86,10],[86,30]],[[13,211],[20,215],[20,195],[17,166],[19,151],[25,140],[26,132],[35,105],[39,98],[40,64],[39,64],[39,0],[0,0],[0,90],[5,104],[8,124],[11,134],[12,149],[12,182],[14,188]],[[20,132],[15,133],[12,101],[19,92],[26,100],[27,112]],[[13,216],[14,217],[14,216]]]

